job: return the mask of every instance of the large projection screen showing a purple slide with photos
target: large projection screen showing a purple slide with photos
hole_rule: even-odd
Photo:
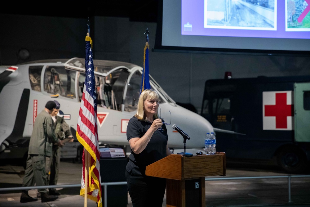
[[[163,0],[162,12],[158,35],[164,48],[310,51],[310,0]]]

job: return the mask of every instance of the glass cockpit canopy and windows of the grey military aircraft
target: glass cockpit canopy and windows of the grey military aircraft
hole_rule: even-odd
[[[118,111],[135,111],[140,95],[142,68],[131,63],[104,60],[94,60],[94,67],[97,106]],[[33,91],[47,93],[51,97],[81,101],[85,60],[72,58],[66,62],[30,64],[29,81]],[[159,93],[160,103],[175,103],[151,76],[150,83],[151,88]]]

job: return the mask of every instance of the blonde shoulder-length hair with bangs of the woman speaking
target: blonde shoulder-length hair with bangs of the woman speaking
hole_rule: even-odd
[[[135,117],[137,117],[139,120],[142,121],[148,120],[144,113],[144,101],[149,99],[159,99],[158,93],[153,89],[145,89],[144,91],[142,91],[142,93],[139,96],[137,113],[135,114]],[[153,115],[154,120],[158,118],[159,118],[158,113]]]

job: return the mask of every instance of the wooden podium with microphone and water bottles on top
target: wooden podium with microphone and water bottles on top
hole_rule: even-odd
[[[205,177],[226,175],[226,154],[192,157],[173,154],[148,165],[145,174],[167,179],[167,207],[205,207]]]

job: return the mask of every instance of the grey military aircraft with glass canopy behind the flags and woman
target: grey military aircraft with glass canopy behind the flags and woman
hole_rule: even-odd
[[[104,60],[94,60],[94,66],[99,142],[102,145],[128,146],[126,127],[137,109],[143,68]],[[3,72],[8,68],[15,72]],[[0,159],[27,155],[33,123],[49,100],[60,103],[60,116],[64,117],[75,135],[85,80],[83,58],[0,66],[0,73]],[[190,137],[186,142],[187,148],[203,148],[206,132],[214,131],[212,125],[202,116],[177,105],[151,76],[149,78],[151,88],[160,96],[158,113],[166,123],[171,122],[166,125],[168,145],[175,149],[184,148],[182,136],[172,128],[176,124]],[[77,147],[76,137],[75,143]],[[71,143],[65,146],[77,151]],[[64,152],[62,157],[66,157]]]

